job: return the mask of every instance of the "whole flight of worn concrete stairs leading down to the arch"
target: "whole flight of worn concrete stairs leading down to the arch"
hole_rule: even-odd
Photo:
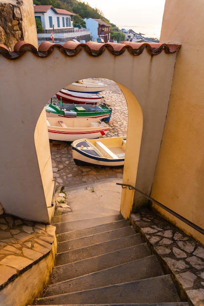
[[[77,211],[71,220],[70,214],[53,217],[58,253],[50,284],[35,305],[189,305],[119,213],[83,215]]]

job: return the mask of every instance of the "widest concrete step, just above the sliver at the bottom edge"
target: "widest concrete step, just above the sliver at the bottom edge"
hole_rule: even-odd
[[[36,300],[36,305],[127,304],[180,302],[170,275],[114,284],[86,291],[59,294]]]

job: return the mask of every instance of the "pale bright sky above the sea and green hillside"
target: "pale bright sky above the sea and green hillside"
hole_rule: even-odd
[[[116,26],[125,24],[161,25],[165,0],[83,0],[98,8]]]

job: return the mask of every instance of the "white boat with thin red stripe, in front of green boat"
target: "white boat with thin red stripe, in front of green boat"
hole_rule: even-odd
[[[82,119],[63,118],[63,121],[58,121],[58,118],[47,117],[49,139],[72,142],[82,137],[100,138],[108,133],[109,127],[105,122],[95,118],[85,120],[83,123]],[[61,126],[60,122],[64,126]]]

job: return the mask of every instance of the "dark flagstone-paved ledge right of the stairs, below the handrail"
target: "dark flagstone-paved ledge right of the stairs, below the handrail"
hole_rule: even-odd
[[[192,305],[204,306],[204,246],[149,210],[132,214],[131,223]]]

